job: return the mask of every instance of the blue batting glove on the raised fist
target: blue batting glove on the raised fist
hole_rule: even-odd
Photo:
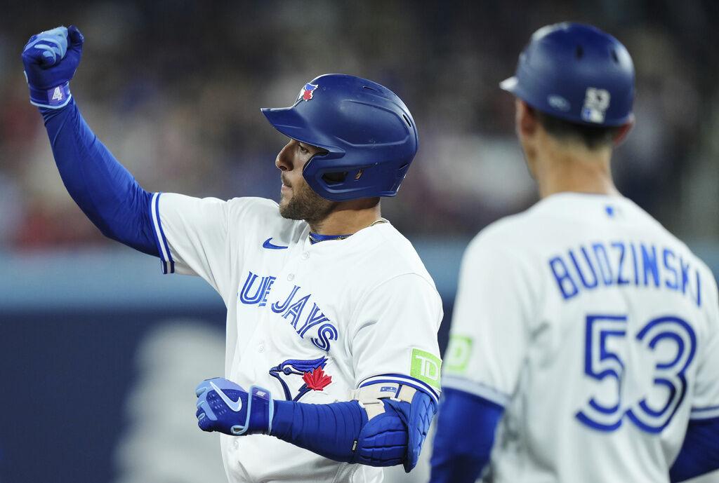
[[[84,40],[73,25],[30,37],[22,50],[22,63],[31,104],[59,109],[70,102],[70,80],[80,64]]]

